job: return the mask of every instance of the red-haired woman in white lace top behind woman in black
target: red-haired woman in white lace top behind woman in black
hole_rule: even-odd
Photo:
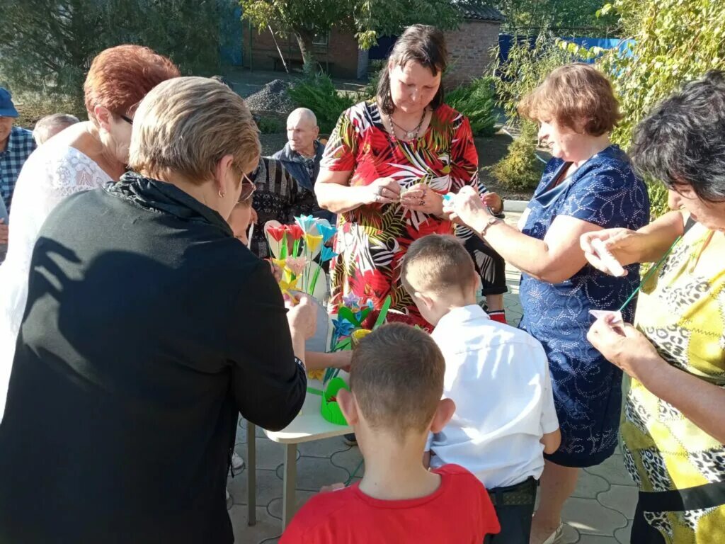
[[[170,59],[147,47],[101,51],[83,86],[88,121],[49,139],[25,162],[13,195],[7,258],[0,269],[0,418],[38,231],[65,197],[118,181],[126,170],[138,103],[157,84],[179,75]]]

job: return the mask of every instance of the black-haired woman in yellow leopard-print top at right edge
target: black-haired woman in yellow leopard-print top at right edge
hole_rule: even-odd
[[[687,84],[640,123],[633,160],[674,211],[607,241],[621,264],[661,262],[634,326],[600,319],[589,339],[631,376],[621,425],[639,486],[631,542],[725,543],[725,74]],[[684,210],[681,210],[684,208]]]

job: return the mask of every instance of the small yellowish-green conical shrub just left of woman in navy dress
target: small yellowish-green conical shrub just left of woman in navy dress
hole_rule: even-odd
[[[489,167],[491,175],[507,189],[534,189],[542,175],[542,163],[536,157],[537,125],[521,124],[521,134],[508,147],[508,153]]]

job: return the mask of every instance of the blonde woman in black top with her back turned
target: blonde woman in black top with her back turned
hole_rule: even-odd
[[[2,543],[231,543],[239,412],[281,429],[305,399],[312,306],[286,313],[226,222],[260,154],[244,102],[175,78],[133,124],[138,173],[62,202],[33,252],[0,424]]]

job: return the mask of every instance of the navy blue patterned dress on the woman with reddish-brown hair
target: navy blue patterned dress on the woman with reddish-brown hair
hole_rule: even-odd
[[[650,201],[629,158],[610,146],[589,159],[571,178],[554,186],[566,165],[548,162],[529,203],[523,233],[543,239],[557,215],[568,215],[602,228],[645,226]],[[594,321],[589,310],[618,310],[637,288],[639,265],[623,278],[585,265],[570,279],[549,284],[521,276],[521,329],[544,346],[549,358],[556,411],[562,433],[550,461],[563,466],[593,466],[608,458],[617,443],[621,371],[587,342]],[[631,323],[636,301],[624,318]]]

